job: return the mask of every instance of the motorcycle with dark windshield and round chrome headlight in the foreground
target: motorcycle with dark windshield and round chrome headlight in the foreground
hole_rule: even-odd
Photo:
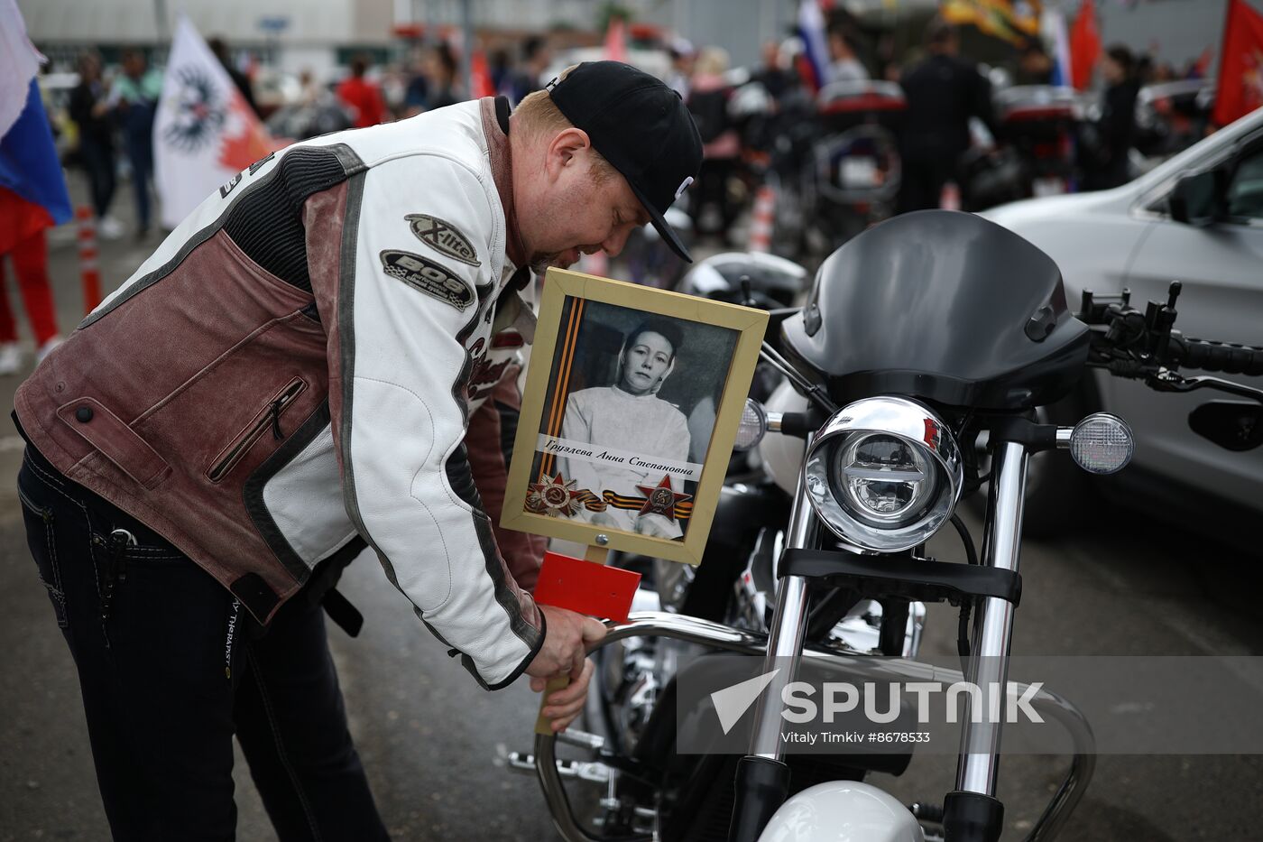
[[[925,679],[928,668],[913,660],[925,622],[917,606],[943,601],[960,609],[962,669],[933,668],[936,680],[1031,692],[1034,709],[1068,733],[1070,769],[1027,836],[1055,838],[1091,779],[1095,743],[1070,702],[1008,680],[1027,463],[1068,450],[1082,469],[1114,473],[1130,459],[1132,439],[1115,416],[1061,427],[1038,422],[1034,410],[1087,368],[1103,368],[1158,391],[1249,398],[1207,403],[1190,425],[1225,448],[1263,444],[1263,391],[1181,372],[1259,374],[1263,349],[1182,336],[1173,329],[1178,293],[1172,284],[1167,302],[1142,312],[1125,291],[1085,292],[1072,314],[1047,255],[951,211],[898,216],[827,258],[806,305],[772,314],[763,354],[786,384],[768,407],[748,405],[739,435],[758,445],[772,482],[725,487],[715,554],[709,547],[696,571],[650,568],[653,588],[594,651],[591,731],[538,736],[533,755],[510,759],[538,776],[562,838],[998,839],[999,718],[964,718],[955,789],[941,803],[911,807],[864,779],[902,774],[912,745],[874,756],[797,755],[779,736],[783,690],[807,665],[860,680]],[[984,487],[979,552],[955,509]],[[949,525],[964,563],[926,552]],[[760,656],[772,676],[740,757],[677,750],[686,722],[715,717],[701,703],[677,709],[677,670],[719,652]],[[585,757],[558,760],[558,743]],[[565,780],[599,793],[586,822],[597,833],[576,817]]]

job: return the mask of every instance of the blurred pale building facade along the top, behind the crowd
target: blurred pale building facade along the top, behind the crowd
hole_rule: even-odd
[[[489,49],[542,32],[558,47],[599,44],[609,8],[632,23],[657,27],[696,47],[725,48],[733,66],[759,59],[759,46],[791,33],[801,0],[18,0],[35,44],[54,66],[71,70],[87,47],[107,63],[125,46],[152,48],[160,63],[178,11],[205,37],[220,35],[239,58],[282,73],[340,77],[356,53],[376,63],[405,61],[421,39],[452,37],[469,15]],[[1263,0],[1249,0],[1263,10]],[[1045,0],[1072,19],[1081,0]],[[1182,66],[1206,51],[1218,67],[1228,0],[1096,0],[1101,40]],[[875,24],[928,16],[938,0],[834,0],[837,9]],[[909,43],[909,47],[916,46]]]

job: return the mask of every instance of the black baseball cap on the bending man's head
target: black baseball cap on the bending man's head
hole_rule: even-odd
[[[702,164],[702,139],[679,95],[623,62],[584,62],[547,90],[566,119],[626,178],[671,250],[692,263],[663,219]]]

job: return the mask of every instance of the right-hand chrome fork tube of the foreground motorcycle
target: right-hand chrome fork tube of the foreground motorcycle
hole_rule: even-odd
[[[998,442],[993,454],[991,491],[986,506],[983,564],[1017,573],[1022,547],[1022,503],[1026,497],[1026,445]],[[981,602],[974,619],[974,651],[967,680],[983,690],[981,721],[970,707],[961,733],[956,789],[995,795],[1000,764],[1000,728],[1007,703],[1009,647],[1013,642],[1013,603],[998,597]],[[988,688],[1000,688],[997,698]],[[999,707],[995,707],[998,703]]]

